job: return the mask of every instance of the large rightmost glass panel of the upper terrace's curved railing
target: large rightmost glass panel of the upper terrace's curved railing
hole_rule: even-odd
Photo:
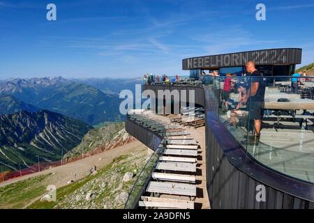
[[[260,136],[255,119],[260,110],[259,100],[250,98],[248,112],[254,117],[251,118],[253,132],[247,138],[247,153],[267,167],[314,183],[313,78],[262,79],[273,84],[265,87]]]

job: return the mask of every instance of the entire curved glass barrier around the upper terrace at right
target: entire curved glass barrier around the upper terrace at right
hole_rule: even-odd
[[[216,101],[211,109],[248,155],[314,183],[314,77],[227,75],[207,77],[204,86]]]

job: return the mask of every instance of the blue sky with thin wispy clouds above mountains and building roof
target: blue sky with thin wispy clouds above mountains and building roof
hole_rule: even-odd
[[[46,20],[48,3],[57,21]],[[313,12],[313,1],[296,0],[0,0],[0,79],[186,75],[187,57],[276,47],[301,47],[305,65]]]

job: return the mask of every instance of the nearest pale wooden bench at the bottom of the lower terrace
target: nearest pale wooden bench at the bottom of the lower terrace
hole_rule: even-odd
[[[142,196],[141,199],[142,201],[138,203],[140,207],[194,209],[194,201],[145,196]]]

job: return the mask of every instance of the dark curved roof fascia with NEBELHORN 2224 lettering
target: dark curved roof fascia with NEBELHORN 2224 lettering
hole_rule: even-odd
[[[254,61],[256,65],[289,65],[301,63],[302,49],[261,49],[232,54],[197,56],[182,60],[183,70],[215,69],[245,66],[246,62]]]

